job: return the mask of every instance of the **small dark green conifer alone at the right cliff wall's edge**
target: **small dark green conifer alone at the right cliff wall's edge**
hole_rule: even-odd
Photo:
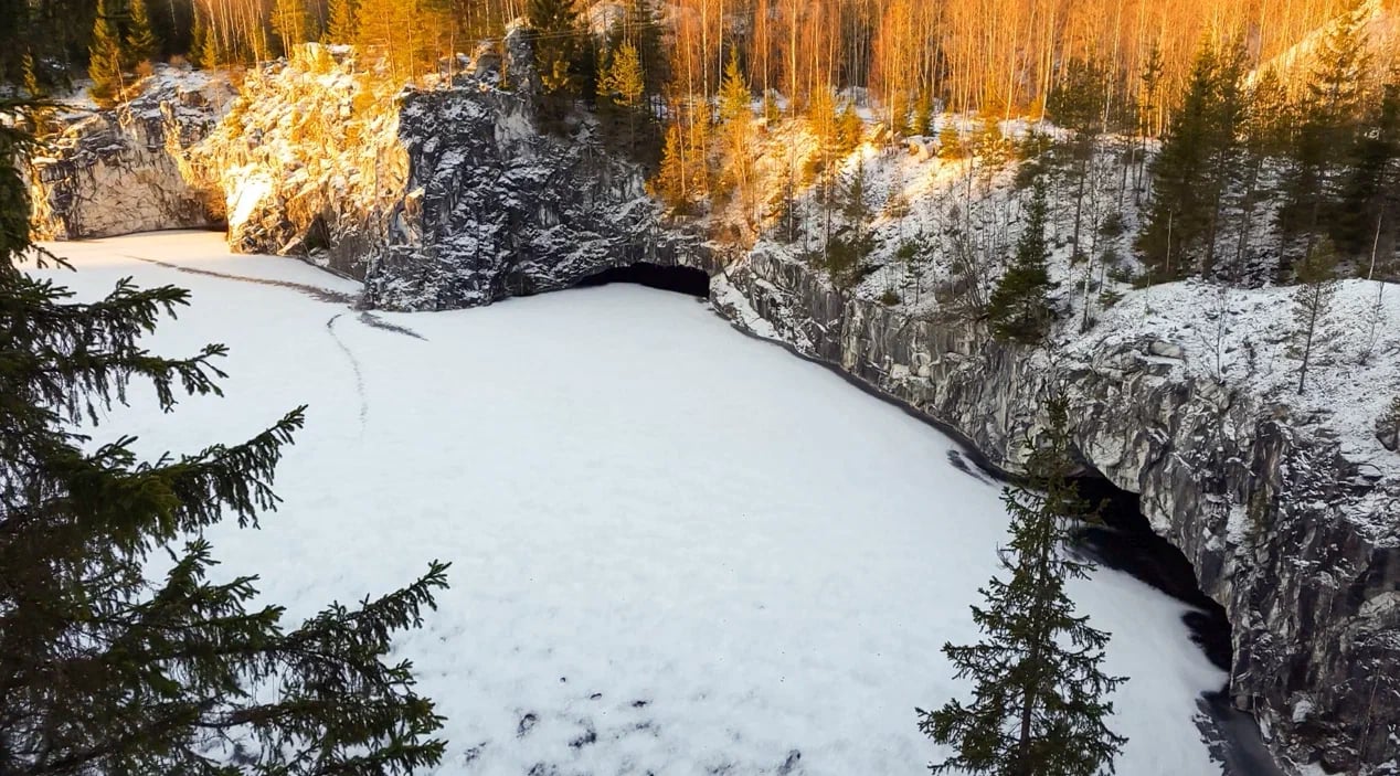
[[[1054,319],[1050,307],[1050,273],[1046,262],[1046,183],[1037,178],[1026,209],[1026,227],[1016,241],[1016,254],[1005,275],[997,282],[987,303],[991,333],[1000,340],[1033,343],[1040,340]]]

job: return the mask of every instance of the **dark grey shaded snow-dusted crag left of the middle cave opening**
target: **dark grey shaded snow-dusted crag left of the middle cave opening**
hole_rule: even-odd
[[[602,150],[591,125],[540,133],[526,99],[476,87],[413,91],[402,105],[407,195],[370,262],[370,304],[475,307],[612,266],[676,263],[640,169]]]

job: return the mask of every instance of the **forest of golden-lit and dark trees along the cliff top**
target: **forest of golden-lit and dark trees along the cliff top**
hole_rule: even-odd
[[[973,167],[1019,161],[1022,200],[1049,171],[1049,219],[1070,203],[1075,263],[1117,261],[1092,235],[1126,233],[1120,282],[1301,283],[1316,318],[1326,282],[1394,272],[1397,18],[1394,0],[7,0],[0,76],[31,92],[87,76],[105,105],[155,62],[237,74],[319,41],[354,45],[377,63],[368,77],[431,85],[504,53],[518,28],[546,125],[591,111],[672,213],[710,213],[713,235],[746,245],[808,233],[837,284],[861,282],[875,251],[851,151],[937,137],[939,157],[974,160],[969,198]],[[774,143],[804,153],[764,162]],[[1121,181],[1098,181],[1105,157]],[[1086,207],[1106,186],[1117,207]],[[1050,252],[1026,245],[1009,287],[979,300],[994,322],[1018,318],[1000,333],[1043,332]]]

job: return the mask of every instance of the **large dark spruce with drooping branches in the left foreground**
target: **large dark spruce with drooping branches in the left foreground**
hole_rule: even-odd
[[[302,426],[297,409],[251,441],[141,461],[132,437],[92,445],[98,424],[148,385],[165,410],[218,394],[210,345],[183,359],[141,338],[189,293],[129,280],[76,303],[20,262],[29,242],[15,169],[28,137],[0,104],[0,773],[330,776],[435,765],[441,717],[414,692],[412,665],[388,661],[417,628],[442,563],[358,607],[301,623],[258,602],[253,576],[218,573],[204,528],[255,528],[277,497],[277,462]],[[168,556],[147,576],[151,553]],[[242,749],[237,763],[228,758]]]

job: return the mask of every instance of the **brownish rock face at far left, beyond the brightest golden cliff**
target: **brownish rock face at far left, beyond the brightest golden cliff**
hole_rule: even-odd
[[[221,223],[217,192],[190,176],[188,158],[232,97],[223,76],[158,66],[130,102],[70,116],[31,160],[35,235],[81,240]]]

